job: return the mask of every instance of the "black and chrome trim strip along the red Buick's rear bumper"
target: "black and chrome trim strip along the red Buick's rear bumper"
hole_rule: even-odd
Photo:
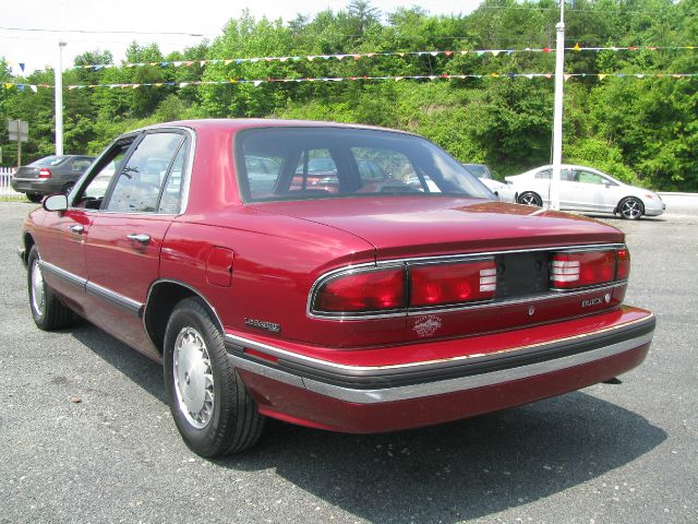
[[[287,358],[272,364],[243,353],[239,337],[226,335],[226,345],[228,358],[240,369],[340,401],[373,404],[482,388],[601,360],[648,345],[652,341],[654,323],[654,317],[650,314],[603,333],[461,359],[456,366],[438,362],[425,369],[419,364],[397,367],[398,372],[396,368],[341,365],[328,372],[327,366],[318,369],[306,361],[299,365]],[[243,347],[253,348],[254,345],[243,344]]]

